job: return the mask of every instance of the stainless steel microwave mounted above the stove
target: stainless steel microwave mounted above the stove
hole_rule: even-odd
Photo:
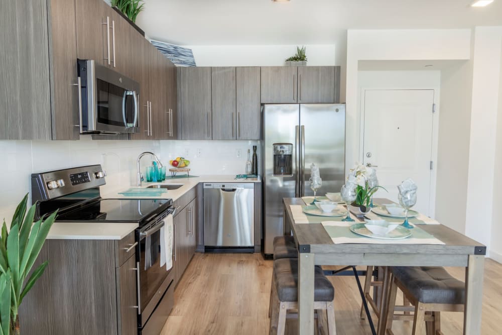
[[[93,60],[77,60],[81,134],[138,133],[140,85]]]

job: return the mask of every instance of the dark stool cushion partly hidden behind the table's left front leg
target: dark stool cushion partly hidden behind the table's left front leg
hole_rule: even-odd
[[[331,301],[335,289],[324,276],[320,266],[314,268],[314,301]],[[298,301],[298,259],[283,258],[274,261],[274,280],[281,301]]]

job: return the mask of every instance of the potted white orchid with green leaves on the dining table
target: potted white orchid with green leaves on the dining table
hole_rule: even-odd
[[[378,184],[375,169],[359,163],[350,169],[347,184],[355,185],[356,198],[350,205],[361,215],[371,211],[373,194],[379,188],[385,189]]]

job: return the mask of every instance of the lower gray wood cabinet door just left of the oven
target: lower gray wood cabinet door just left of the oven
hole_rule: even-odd
[[[119,329],[121,335],[138,334],[138,293],[136,288],[136,257],[130,257],[117,269]]]

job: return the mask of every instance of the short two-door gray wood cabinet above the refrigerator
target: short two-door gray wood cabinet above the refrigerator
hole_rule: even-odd
[[[262,103],[335,103],[339,66],[262,67]]]

